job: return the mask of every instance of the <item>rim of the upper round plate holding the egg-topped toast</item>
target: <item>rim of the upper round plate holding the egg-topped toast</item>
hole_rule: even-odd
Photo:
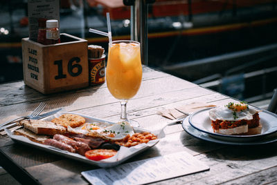
[[[201,128],[198,128],[197,126],[195,126],[195,124],[192,123],[191,117],[193,117],[194,115],[196,115],[197,113],[200,113],[200,112],[202,112],[202,111],[208,111],[208,110],[210,110],[211,108],[215,108],[215,107],[204,108],[204,109],[202,109],[202,110],[198,110],[198,111],[196,111],[195,113],[189,115],[189,117],[188,117],[188,122],[189,122],[189,124],[190,124],[191,126],[193,126],[193,128],[195,128],[195,129],[197,129],[197,130],[199,130],[199,131],[201,131],[201,132],[203,132],[203,133],[207,133],[208,135],[215,135],[215,136],[217,136],[217,137],[230,137],[230,138],[237,138],[237,139],[239,139],[239,138],[246,139],[246,138],[254,138],[254,137],[265,137],[265,136],[267,136],[267,135],[271,135],[271,134],[277,132],[277,126],[276,126],[275,130],[273,130],[273,131],[271,131],[271,132],[269,132],[269,133],[265,133],[265,134],[258,134],[258,135],[223,135],[223,134],[220,134],[220,133],[211,133],[211,132],[209,132],[208,130],[203,130],[203,129],[201,129]],[[263,113],[267,113],[267,114],[269,114],[269,115],[271,115],[271,116],[276,117],[276,121],[277,121],[277,115],[276,115],[276,114],[271,113],[271,112],[269,112],[269,111],[267,111],[267,110],[262,110],[262,112],[263,112]]]

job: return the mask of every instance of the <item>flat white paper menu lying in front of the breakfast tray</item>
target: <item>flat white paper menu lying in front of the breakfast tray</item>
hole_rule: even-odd
[[[147,184],[164,179],[207,171],[206,164],[181,152],[82,172],[91,184]]]

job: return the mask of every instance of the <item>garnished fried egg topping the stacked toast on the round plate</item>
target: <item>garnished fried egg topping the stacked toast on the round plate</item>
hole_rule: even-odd
[[[258,113],[258,110],[248,108],[247,104],[244,103],[229,103],[226,106],[211,108],[208,112],[210,119],[213,121],[217,119],[222,121],[251,120],[256,113]]]

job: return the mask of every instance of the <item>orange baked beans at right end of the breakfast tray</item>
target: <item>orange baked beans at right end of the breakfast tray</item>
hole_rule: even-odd
[[[120,146],[136,146],[142,143],[148,143],[150,140],[157,139],[157,136],[152,133],[134,133],[132,136],[127,135],[124,139],[116,141],[115,144]]]

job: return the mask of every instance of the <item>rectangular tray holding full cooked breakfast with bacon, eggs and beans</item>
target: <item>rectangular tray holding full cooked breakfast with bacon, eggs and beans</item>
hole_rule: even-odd
[[[21,127],[14,131],[5,129],[13,141],[103,168],[121,164],[165,137],[163,130],[151,133],[125,121],[63,111],[18,124]]]

